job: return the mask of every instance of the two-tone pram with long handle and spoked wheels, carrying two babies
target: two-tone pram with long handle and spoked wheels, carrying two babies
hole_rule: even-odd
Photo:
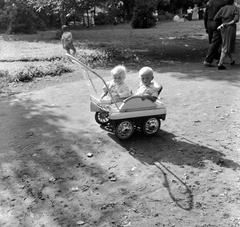
[[[67,56],[99,77],[112,96],[105,80],[100,75],[73,56],[68,54]],[[161,91],[160,86],[159,94]],[[98,98],[90,96],[90,110],[95,113],[95,120],[98,124],[111,126],[116,137],[121,140],[130,138],[135,130],[140,130],[148,136],[153,135],[160,129],[161,121],[166,118],[166,106],[160,99],[152,102],[149,99],[143,99],[142,96],[130,96],[122,102],[113,101],[110,105],[101,103]]]

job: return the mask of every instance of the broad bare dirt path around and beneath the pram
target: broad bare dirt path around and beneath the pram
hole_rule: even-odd
[[[228,68],[155,68],[167,119],[127,141],[95,122],[76,74],[1,99],[0,225],[240,226],[240,73]]]

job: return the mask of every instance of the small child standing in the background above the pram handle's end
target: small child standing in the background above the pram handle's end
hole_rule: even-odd
[[[63,34],[62,34],[61,42],[62,42],[63,49],[65,49],[68,52],[68,54],[71,54],[70,50],[72,50],[73,56],[75,57],[76,48],[73,45],[72,33],[69,31],[69,28],[67,25],[62,26],[62,32]]]

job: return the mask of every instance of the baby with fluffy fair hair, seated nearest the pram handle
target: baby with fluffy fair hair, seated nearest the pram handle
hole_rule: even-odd
[[[126,78],[126,68],[123,65],[118,65],[111,70],[113,80],[107,82],[109,94],[106,87],[103,88],[103,94],[101,95],[100,102],[105,104],[111,104],[114,102],[121,102],[125,98],[132,94],[130,87],[124,82]],[[114,100],[112,100],[112,98]]]

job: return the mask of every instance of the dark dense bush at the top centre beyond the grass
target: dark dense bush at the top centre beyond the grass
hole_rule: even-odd
[[[153,12],[156,9],[155,1],[137,0],[133,12],[132,27],[133,28],[150,28],[156,25],[156,19]]]

